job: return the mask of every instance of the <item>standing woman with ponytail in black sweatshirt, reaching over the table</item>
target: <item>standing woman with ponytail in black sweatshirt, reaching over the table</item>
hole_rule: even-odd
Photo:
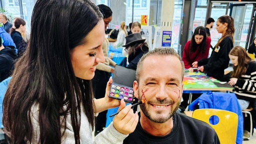
[[[223,15],[218,17],[216,29],[222,36],[214,46],[209,58],[203,58],[192,63],[193,67],[205,72],[208,76],[224,81],[224,69],[228,67],[228,53],[233,47],[234,19],[231,16]]]

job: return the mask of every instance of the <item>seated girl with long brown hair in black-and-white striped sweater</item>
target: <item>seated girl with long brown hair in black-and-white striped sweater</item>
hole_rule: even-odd
[[[256,100],[256,61],[251,60],[246,50],[241,46],[234,46],[228,54],[233,63],[233,71],[230,71],[228,83],[234,87],[241,109],[252,107],[252,127],[256,126],[256,109],[253,107]],[[244,117],[243,129],[250,131],[250,122]],[[246,131],[246,132],[247,132]]]

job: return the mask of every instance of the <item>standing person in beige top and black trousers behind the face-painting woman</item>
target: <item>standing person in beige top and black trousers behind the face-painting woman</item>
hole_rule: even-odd
[[[104,4],[99,4],[97,6],[99,8],[99,11],[103,15],[104,27],[106,30],[108,23],[112,20],[112,11],[111,11],[110,7],[108,7]],[[108,57],[108,45],[109,45],[109,42],[108,42],[107,38],[105,37],[103,44],[102,44],[105,61],[98,62],[98,65],[96,66],[96,70],[95,70],[95,75],[92,78],[92,87],[93,87],[93,91],[94,91],[94,97],[96,99],[104,97],[106,83],[107,83],[109,77],[111,76],[111,73],[114,73],[114,66],[116,64],[110,57]],[[103,130],[103,127],[105,127],[106,111],[107,110],[99,112],[97,117],[95,117],[94,135],[97,135],[100,131]]]

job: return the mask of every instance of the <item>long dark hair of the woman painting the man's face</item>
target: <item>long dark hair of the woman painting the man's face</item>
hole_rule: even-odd
[[[100,19],[90,0],[36,1],[27,50],[16,62],[3,100],[4,130],[13,143],[31,143],[33,107],[38,107],[40,143],[61,143],[67,114],[80,143],[80,106],[93,127],[91,83],[75,77],[70,50],[86,42]]]

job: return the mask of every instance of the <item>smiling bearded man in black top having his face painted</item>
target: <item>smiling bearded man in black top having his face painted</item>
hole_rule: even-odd
[[[123,143],[219,143],[205,122],[176,113],[183,84],[184,64],[173,48],[155,48],[137,64],[134,95],[140,119]]]

